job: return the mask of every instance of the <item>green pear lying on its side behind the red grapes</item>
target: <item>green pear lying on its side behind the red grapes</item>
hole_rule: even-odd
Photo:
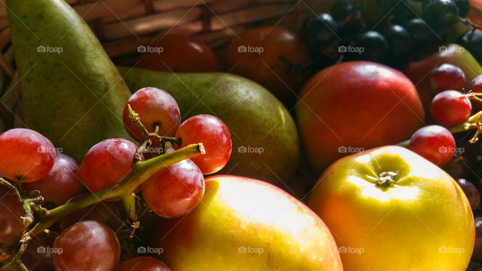
[[[129,88],[169,92],[182,121],[211,114],[229,128],[231,158],[220,173],[257,178],[286,188],[299,158],[296,125],[286,108],[261,85],[231,74],[169,73],[119,67]]]

